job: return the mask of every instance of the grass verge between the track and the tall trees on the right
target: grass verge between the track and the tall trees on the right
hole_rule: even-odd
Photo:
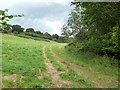
[[[65,44],[63,44],[65,46]],[[71,53],[66,48],[60,48],[61,45],[53,45],[52,49],[61,61],[67,61],[73,64],[71,68],[81,72],[83,77],[89,76],[89,81],[99,82],[103,87],[118,87],[118,66],[111,65],[114,61],[104,56],[93,56],[90,53]],[[95,86],[97,87],[97,86]]]

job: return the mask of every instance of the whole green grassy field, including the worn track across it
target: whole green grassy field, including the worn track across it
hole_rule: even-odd
[[[118,67],[111,65],[114,61],[72,54],[65,45],[2,35],[2,87],[118,87]]]

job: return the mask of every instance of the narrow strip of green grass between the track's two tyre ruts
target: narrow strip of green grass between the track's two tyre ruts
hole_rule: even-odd
[[[60,77],[63,80],[72,82],[67,87],[69,87],[69,88],[81,88],[81,87],[92,88],[93,87],[89,82],[87,82],[87,80],[85,80],[82,76],[79,76],[70,67],[67,67],[66,65],[63,65],[63,64],[57,62],[57,59],[60,59],[60,58],[56,58],[56,56],[51,55],[50,46],[46,47],[45,50],[46,50],[47,58],[51,61],[52,65],[56,68],[56,70],[65,72],[65,73],[60,74]]]

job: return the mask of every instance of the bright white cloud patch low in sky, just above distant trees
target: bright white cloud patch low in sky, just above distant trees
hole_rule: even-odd
[[[52,28],[53,31],[50,32],[50,34],[58,34],[58,35],[60,35],[61,34],[60,29],[62,28],[63,23],[60,22],[60,21],[46,21],[45,26]]]

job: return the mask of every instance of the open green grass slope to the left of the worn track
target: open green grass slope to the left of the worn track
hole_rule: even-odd
[[[17,83],[17,87],[35,87],[36,85],[51,86],[51,80],[44,74],[46,73],[46,66],[42,54],[42,47],[46,43],[11,35],[3,35],[2,75],[17,74],[17,76],[24,76],[21,85]],[[41,79],[37,77],[40,76],[39,69],[43,75]],[[9,82],[9,80],[8,83],[6,82],[3,79],[3,87],[9,86],[9,83],[13,83],[11,81]]]

